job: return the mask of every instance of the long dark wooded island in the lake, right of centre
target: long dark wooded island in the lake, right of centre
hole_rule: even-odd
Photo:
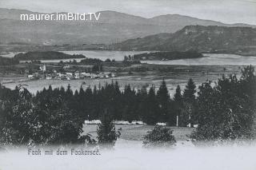
[[[185,58],[203,57],[202,53],[197,51],[167,51],[154,53],[139,53],[134,55],[134,60],[178,60]]]

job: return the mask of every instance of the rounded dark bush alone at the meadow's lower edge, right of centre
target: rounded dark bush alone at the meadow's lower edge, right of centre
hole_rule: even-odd
[[[156,125],[152,131],[147,132],[144,136],[143,146],[146,148],[153,147],[172,147],[176,144],[173,130]]]

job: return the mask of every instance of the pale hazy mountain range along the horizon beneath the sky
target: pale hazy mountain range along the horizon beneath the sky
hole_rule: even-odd
[[[20,14],[40,13],[0,8],[0,44],[111,44],[152,34],[174,33],[189,25],[249,26],[229,25],[177,14],[142,18],[109,10],[100,13],[98,22],[25,22],[19,20]]]

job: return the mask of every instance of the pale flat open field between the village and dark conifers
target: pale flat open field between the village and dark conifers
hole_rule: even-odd
[[[158,89],[161,85],[161,81],[164,78],[170,95],[174,94],[174,90],[177,85],[181,85],[183,89],[190,77],[193,78],[196,85],[201,85],[202,82],[218,81],[218,78],[222,77],[224,73],[226,76],[230,73],[240,74],[242,66],[238,65],[142,65],[142,67],[148,69],[146,71],[132,71],[133,69],[124,70],[121,73],[116,73],[117,77],[109,79],[81,79],[81,80],[36,80],[30,81],[23,75],[0,75],[0,82],[7,88],[14,89],[16,85],[24,84],[31,93],[36,93],[38,90],[48,88],[52,85],[53,88],[67,87],[70,84],[71,89],[80,89],[81,85],[84,89],[87,87],[93,87],[104,85],[106,82],[118,81],[121,89],[124,89],[125,85],[130,84],[135,89],[141,89],[142,86],[146,86],[148,89],[151,85],[154,85]],[[128,71],[131,70],[131,71]]]

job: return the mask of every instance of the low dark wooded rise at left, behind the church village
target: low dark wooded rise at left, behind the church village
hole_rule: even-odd
[[[27,53],[18,53],[14,59],[22,60],[53,60],[53,59],[70,59],[70,58],[85,58],[83,55],[70,55],[56,51],[33,51]]]

